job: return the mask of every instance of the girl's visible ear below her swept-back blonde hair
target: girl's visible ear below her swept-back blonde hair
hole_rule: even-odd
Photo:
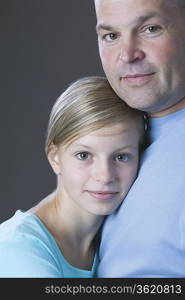
[[[55,174],[60,174],[59,147],[52,143],[49,146],[47,158]]]

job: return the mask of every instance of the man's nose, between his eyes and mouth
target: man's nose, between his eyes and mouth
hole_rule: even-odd
[[[119,59],[126,64],[133,63],[145,58],[145,52],[140,43],[134,37],[125,37],[119,52]]]

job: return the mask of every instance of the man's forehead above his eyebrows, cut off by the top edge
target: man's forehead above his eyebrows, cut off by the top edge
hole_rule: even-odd
[[[174,18],[184,15],[177,4],[181,0],[94,0],[97,4],[96,30],[120,30],[120,28],[135,27],[149,20],[170,23]],[[175,9],[175,7],[177,9]],[[157,19],[156,19],[157,18]],[[184,17],[183,17],[184,18]]]

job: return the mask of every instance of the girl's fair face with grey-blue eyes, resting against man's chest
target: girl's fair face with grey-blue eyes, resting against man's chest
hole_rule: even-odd
[[[136,126],[126,121],[51,147],[48,159],[58,175],[62,205],[102,216],[118,208],[137,174]]]

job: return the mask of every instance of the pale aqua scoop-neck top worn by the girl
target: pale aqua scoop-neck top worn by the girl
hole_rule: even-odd
[[[18,210],[0,225],[0,277],[92,278],[91,271],[70,265],[54,237],[34,214]]]

